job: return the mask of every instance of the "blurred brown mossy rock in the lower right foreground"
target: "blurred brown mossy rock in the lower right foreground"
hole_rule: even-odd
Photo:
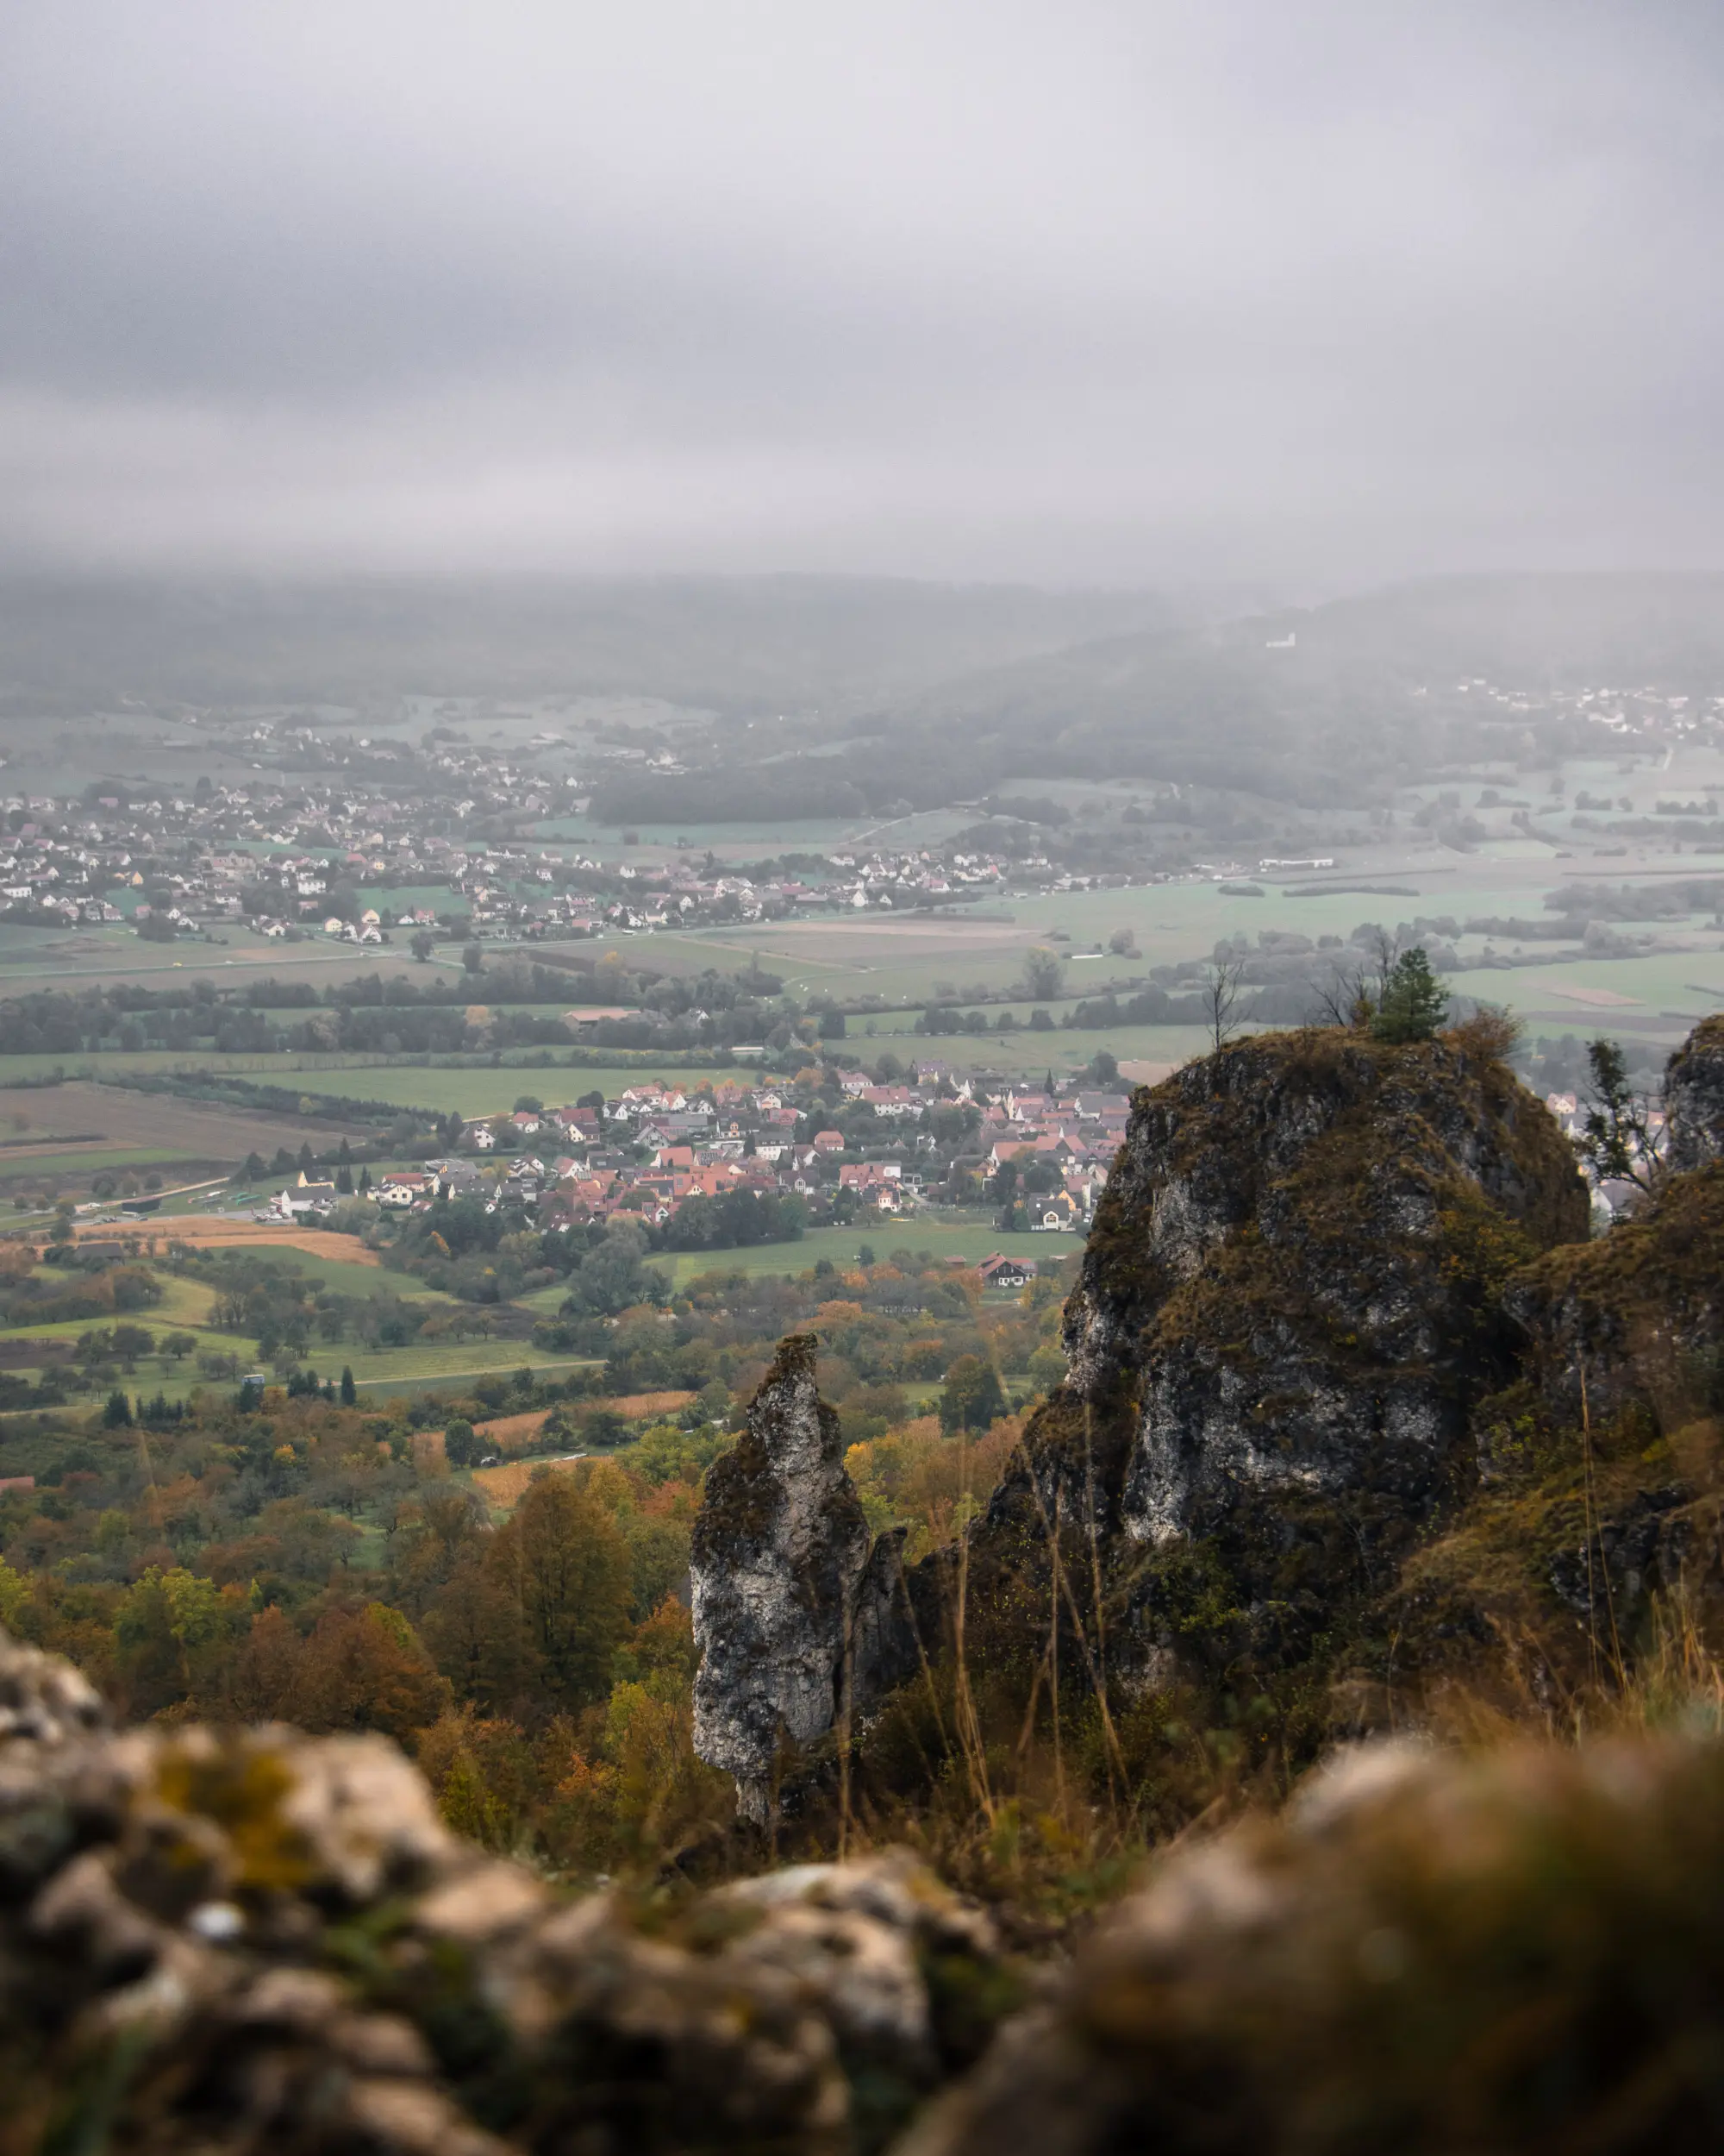
[[[901,2156],[1601,2156],[1724,2117],[1724,1749],[1366,1749],[1168,1863]]]

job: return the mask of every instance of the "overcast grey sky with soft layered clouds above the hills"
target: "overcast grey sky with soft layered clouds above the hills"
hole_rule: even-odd
[[[1715,0],[6,0],[0,548],[1724,567]]]

